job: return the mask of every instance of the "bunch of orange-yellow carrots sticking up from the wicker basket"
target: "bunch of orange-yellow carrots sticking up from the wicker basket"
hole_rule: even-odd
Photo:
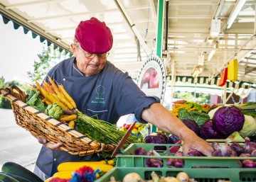
[[[53,81],[50,76],[48,76],[48,79],[50,84],[45,80],[43,80],[42,85],[38,84],[36,81],[36,87],[40,91],[41,96],[43,96],[43,102],[48,105],[57,103],[58,106],[63,108],[64,113],[70,113],[70,115],[72,115],[74,113],[73,110],[77,108],[75,101],[68,92],[65,91],[62,84],[55,84],[55,81]]]

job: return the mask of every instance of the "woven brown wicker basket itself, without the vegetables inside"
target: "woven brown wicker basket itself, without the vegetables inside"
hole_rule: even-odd
[[[116,146],[103,144],[82,135],[58,120],[50,118],[39,110],[12,96],[10,89],[0,89],[0,95],[11,101],[16,124],[31,132],[32,135],[44,137],[50,143],[62,142],[60,150],[73,155],[85,156],[98,152],[111,152]]]

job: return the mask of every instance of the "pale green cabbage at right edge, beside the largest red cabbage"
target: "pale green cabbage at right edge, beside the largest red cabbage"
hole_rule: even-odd
[[[250,137],[256,134],[256,120],[250,115],[245,115],[245,123],[239,132],[242,137]]]

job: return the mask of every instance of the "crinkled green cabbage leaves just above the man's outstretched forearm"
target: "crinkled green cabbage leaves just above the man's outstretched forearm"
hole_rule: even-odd
[[[185,108],[181,108],[180,110],[178,110],[178,118],[180,120],[194,120],[199,126],[203,125],[203,123],[206,123],[207,120],[210,120],[209,115],[206,113],[200,113],[198,111],[188,111]]]

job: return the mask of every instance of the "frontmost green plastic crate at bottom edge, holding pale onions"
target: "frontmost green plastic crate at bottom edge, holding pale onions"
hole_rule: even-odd
[[[255,169],[193,169],[193,168],[113,168],[107,174],[103,175],[96,182],[108,182],[110,177],[114,176],[116,181],[122,181],[124,176],[131,172],[136,172],[144,180],[151,179],[151,172],[155,171],[159,176],[174,176],[178,172],[184,171],[190,178],[198,182],[217,182],[219,179],[232,182],[251,182],[256,181]]]

